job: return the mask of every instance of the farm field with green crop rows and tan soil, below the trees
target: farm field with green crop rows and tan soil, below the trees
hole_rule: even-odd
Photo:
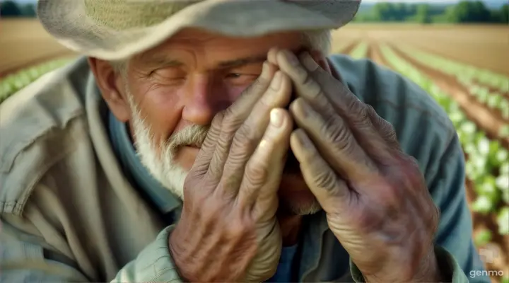
[[[483,257],[487,270],[505,275],[493,276],[493,282],[509,282],[509,27],[351,24],[334,32],[333,40],[333,52],[372,59],[403,74],[450,116],[467,161],[476,246],[481,255],[496,255]],[[65,61],[7,74],[69,56],[75,54],[37,21],[0,20],[0,102]]]

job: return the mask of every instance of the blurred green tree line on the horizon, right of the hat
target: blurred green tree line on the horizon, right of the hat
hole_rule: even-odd
[[[377,3],[359,11],[356,22],[501,23],[509,24],[509,4],[490,9],[482,1],[455,5]]]

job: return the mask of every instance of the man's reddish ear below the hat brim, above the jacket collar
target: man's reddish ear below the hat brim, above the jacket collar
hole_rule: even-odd
[[[131,117],[131,110],[122,75],[117,74],[110,62],[102,59],[88,57],[88,64],[108,108],[119,121],[127,122]]]

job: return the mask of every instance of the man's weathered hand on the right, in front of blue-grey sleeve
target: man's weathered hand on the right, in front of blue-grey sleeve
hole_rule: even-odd
[[[270,55],[272,54],[272,56]],[[292,79],[291,149],[329,227],[368,282],[439,281],[438,209],[392,126],[304,53],[271,51]]]

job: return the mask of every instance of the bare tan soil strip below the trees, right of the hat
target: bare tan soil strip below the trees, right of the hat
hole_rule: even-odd
[[[349,39],[418,47],[509,75],[509,25],[349,24],[334,32],[334,40]]]

